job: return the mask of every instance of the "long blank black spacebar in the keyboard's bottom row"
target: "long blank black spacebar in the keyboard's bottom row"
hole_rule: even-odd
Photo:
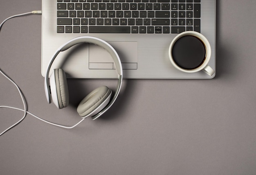
[[[89,26],[89,33],[130,33],[130,26]]]

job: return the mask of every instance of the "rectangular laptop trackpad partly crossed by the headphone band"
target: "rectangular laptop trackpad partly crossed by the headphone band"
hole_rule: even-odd
[[[108,43],[117,51],[123,69],[137,69],[137,42]],[[89,69],[115,69],[115,65],[108,51],[89,44]]]

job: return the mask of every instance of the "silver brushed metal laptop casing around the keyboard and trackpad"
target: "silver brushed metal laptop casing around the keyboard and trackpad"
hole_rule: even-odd
[[[135,79],[211,79],[200,71],[184,73],[176,70],[169,61],[168,47],[177,34],[98,34],[98,33],[56,33],[57,3],[42,0],[42,75],[54,52],[68,40],[81,35],[99,37],[107,42],[137,42],[137,69],[124,70],[124,78]],[[211,44],[209,66],[215,69],[216,0],[201,0],[201,33]],[[114,47],[115,48],[115,47]],[[129,47],[128,51],[134,52]],[[66,52],[66,51],[65,51]],[[127,51],[126,51],[127,52]],[[73,78],[115,78],[115,70],[89,69],[89,54],[86,44],[58,55],[52,68],[62,67],[67,77]]]

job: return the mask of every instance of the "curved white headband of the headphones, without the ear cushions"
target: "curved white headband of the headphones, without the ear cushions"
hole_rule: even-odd
[[[81,37],[76,37],[74,39],[71,39],[70,41],[63,44],[63,46],[58,48],[58,50],[56,50],[55,54],[53,55],[52,59],[49,61],[49,64],[47,66],[47,71],[45,74],[45,95],[47,98],[47,102],[51,103],[51,94],[50,94],[50,86],[49,86],[49,72],[50,72],[52,63],[54,62],[57,55],[60,52],[65,51],[65,50],[71,48],[72,46],[74,46],[76,44],[80,44],[80,43],[96,44],[98,46],[101,46],[105,50],[107,50],[108,53],[110,53],[110,55],[115,63],[115,68],[118,73],[117,89],[115,91],[113,98],[110,100],[110,103],[101,112],[99,112],[98,114],[96,114],[95,116],[92,117],[92,119],[94,120],[94,119],[98,118],[99,116],[101,116],[104,112],[106,112],[106,110],[108,110],[113,105],[113,103],[115,102],[115,100],[121,90],[121,84],[122,84],[122,79],[123,79],[123,70],[122,70],[122,65],[121,65],[119,55],[117,54],[116,50],[110,44],[108,44],[106,41],[99,39],[97,37],[81,36]]]

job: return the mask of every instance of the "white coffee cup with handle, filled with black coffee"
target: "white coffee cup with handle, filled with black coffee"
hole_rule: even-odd
[[[196,49],[193,49],[194,46],[191,46],[190,49],[193,49],[193,53],[196,53],[195,55],[189,55],[189,53],[186,53],[184,52],[184,49],[186,49],[186,47],[183,48],[183,45],[186,45],[187,47],[190,47],[190,44],[189,42],[186,42],[182,44],[182,41],[185,42],[185,38],[188,38],[188,37],[184,37],[184,36],[193,36],[195,37],[196,39],[193,39],[195,40],[196,43],[199,43],[197,42],[196,40],[200,41],[202,46],[200,46],[200,48],[203,48],[204,47],[204,53],[200,53],[200,58],[196,58],[196,59],[199,59],[199,60],[196,60],[196,61],[200,61],[202,60],[200,63],[198,63],[198,66],[191,66],[191,67],[186,67],[186,66],[180,66],[179,63],[177,62],[181,62],[183,60],[189,60],[192,62],[192,64],[196,64],[196,63],[193,63],[193,59],[195,59],[195,57],[197,57],[197,51]],[[182,38],[183,37],[183,38]],[[182,39],[181,39],[182,38]],[[192,39],[192,37],[190,37]],[[179,42],[177,42],[179,41]],[[200,44],[199,44],[200,45]],[[177,48],[179,48],[178,46],[182,46],[182,48],[179,50],[179,51],[176,51]],[[197,47],[195,47],[197,48]],[[173,49],[176,49],[176,50],[173,50]],[[201,49],[202,50],[202,49]],[[200,50],[200,51],[201,51]],[[207,40],[206,37],[204,37],[204,35],[202,35],[201,33],[198,33],[198,32],[194,32],[194,31],[186,31],[186,32],[182,32],[180,34],[178,34],[174,39],[173,41],[171,42],[170,44],[170,47],[169,47],[169,59],[172,63],[172,65],[177,69],[177,70],[180,70],[180,71],[183,71],[183,72],[188,72],[188,73],[193,73],[193,72],[198,72],[200,70],[203,70],[204,72],[206,72],[208,75],[212,76],[214,74],[214,70],[208,65],[209,61],[210,61],[210,58],[211,58],[211,46],[210,46],[210,43],[209,41]],[[178,55],[177,53],[181,53],[181,55]],[[183,59],[181,57],[185,57],[184,54],[186,54],[186,59]],[[190,58],[191,57],[191,58]]]

